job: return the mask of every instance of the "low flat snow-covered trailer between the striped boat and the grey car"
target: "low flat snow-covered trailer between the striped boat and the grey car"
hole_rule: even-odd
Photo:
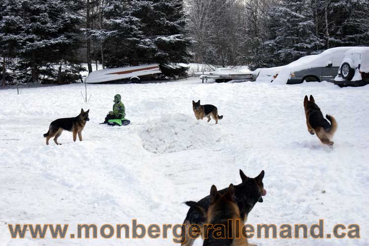
[[[251,72],[238,72],[230,67],[220,67],[213,72],[195,73],[201,80],[213,79],[215,82],[228,82],[233,80],[252,81]]]

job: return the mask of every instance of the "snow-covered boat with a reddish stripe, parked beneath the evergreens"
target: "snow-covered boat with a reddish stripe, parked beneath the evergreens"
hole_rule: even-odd
[[[102,82],[122,82],[132,83],[141,82],[141,78],[152,77],[155,74],[161,74],[158,64],[148,64],[142,66],[107,68],[92,72],[87,76],[86,83]]]

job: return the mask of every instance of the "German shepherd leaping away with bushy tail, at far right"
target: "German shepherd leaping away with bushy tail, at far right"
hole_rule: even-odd
[[[316,134],[322,143],[328,144],[332,147],[334,142],[332,142],[331,139],[338,127],[336,119],[332,115],[326,114],[325,117],[331,122],[330,124],[328,120],[323,117],[322,111],[318,105],[315,104],[315,100],[312,95],[310,95],[310,100],[305,96],[304,108],[307,131],[311,135]]]

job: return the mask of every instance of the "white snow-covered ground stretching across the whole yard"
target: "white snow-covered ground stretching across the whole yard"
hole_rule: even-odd
[[[169,239],[11,240],[7,224],[182,223],[183,204],[215,184],[238,184],[239,169],[265,170],[263,203],[247,222],[359,224],[360,240],[251,239],[257,245],[369,244],[369,86],[332,83],[83,84],[0,90],[0,245],[171,245]],[[122,95],[131,125],[98,125]],[[338,121],[334,148],[307,132],[303,100],[313,94]],[[214,104],[224,118],[197,121],[192,100]],[[45,145],[51,121],[90,109],[84,140],[71,133]],[[67,235],[68,235],[67,234]],[[202,245],[197,240],[196,245]]]

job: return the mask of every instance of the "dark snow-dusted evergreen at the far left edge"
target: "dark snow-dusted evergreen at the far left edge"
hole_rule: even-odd
[[[19,58],[15,70],[28,82],[72,82],[80,71],[75,50],[78,48],[79,19],[67,1],[6,0],[1,4],[1,43],[7,52]],[[29,72],[31,71],[31,73]],[[31,78],[30,78],[31,76]],[[41,77],[42,76],[42,77]]]

